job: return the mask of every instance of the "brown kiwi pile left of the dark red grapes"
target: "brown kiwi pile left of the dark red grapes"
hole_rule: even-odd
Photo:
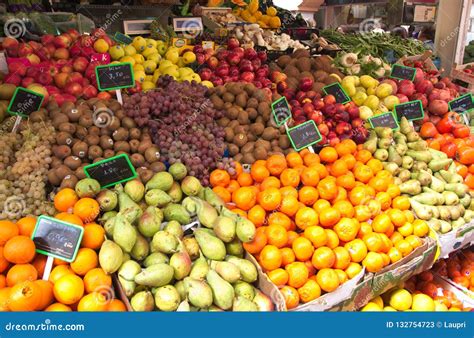
[[[166,170],[146,128],[137,128],[116,100],[93,98],[65,102],[61,107],[50,102],[47,109],[32,113],[30,119],[51,120],[56,129],[48,173],[53,187],[74,188],[78,180],[86,177],[86,165],[120,154],[129,156],[143,182]]]

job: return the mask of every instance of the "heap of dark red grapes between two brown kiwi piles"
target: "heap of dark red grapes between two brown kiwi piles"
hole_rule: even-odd
[[[209,173],[225,151],[224,129],[215,122],[222,113],[196,82],[177,82],[162,76],[157,89],[124,98],[124,109],[140,127],[148,127],[161,159],[182,162],[189,174],[209,184]]]

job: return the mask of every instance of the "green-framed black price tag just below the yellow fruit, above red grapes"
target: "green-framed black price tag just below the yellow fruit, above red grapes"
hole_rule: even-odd
[[[95,67],[99,90],[116,90],[135,86],[132,64],[130,62],[111,63]]]

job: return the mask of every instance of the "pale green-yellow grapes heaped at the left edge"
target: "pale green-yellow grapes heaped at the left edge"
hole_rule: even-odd
[[[6,144],[0,164],[0,219],[54,213],[46,196],[54,139],[54,128],[45,123],[29,123],[19,134],[0,136],[0,144]]]

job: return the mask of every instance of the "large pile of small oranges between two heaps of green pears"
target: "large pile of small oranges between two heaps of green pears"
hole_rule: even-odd
[[[211,173],[213,190],[257,234],[244,248],[280,288],[288,309],[332,292],[362,268],[377,272],[423,244],[415,220],[382,162],[352,140],[318,154],[272,155],[250,172]]]

